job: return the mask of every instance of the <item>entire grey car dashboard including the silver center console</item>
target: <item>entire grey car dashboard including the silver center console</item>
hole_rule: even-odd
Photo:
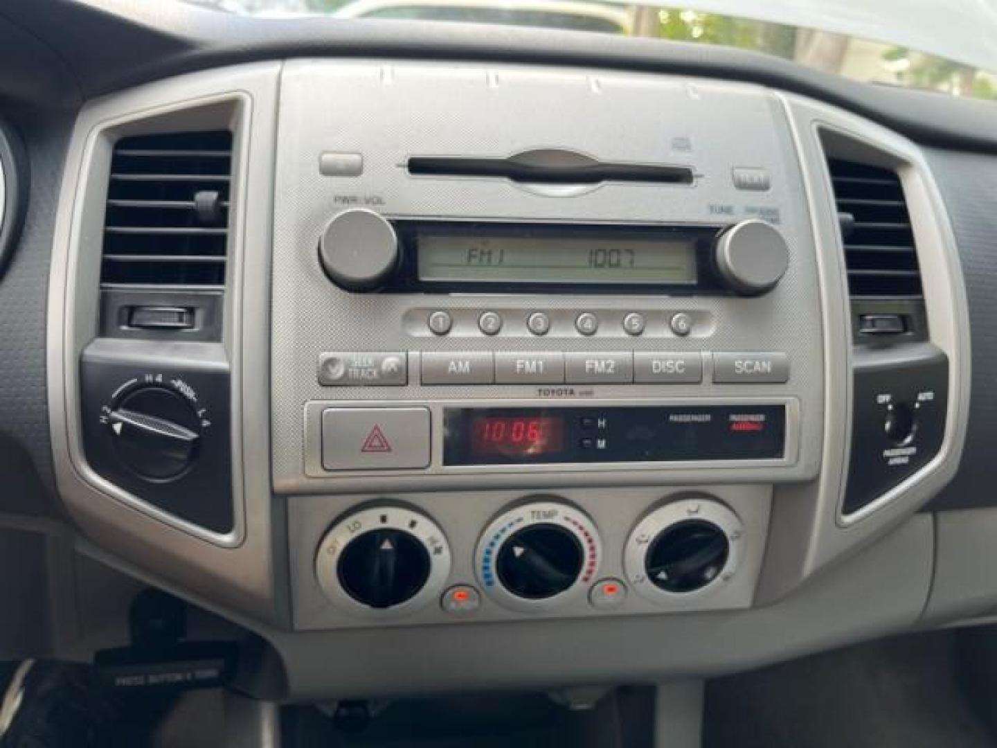
[[[997,606],[989,105],[73,6],[163,59],[63,30],[80,90],[0,104],[0,545],[52,621],[12,651],[120,644],[109,569],[286,700],[660,682]]]

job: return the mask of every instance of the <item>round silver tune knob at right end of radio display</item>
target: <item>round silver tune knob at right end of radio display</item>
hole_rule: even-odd
[[[771,223],[750,219],[724,229],[714,244],[721,278],[736,293],[771,291],[790,266],[790,247]]]

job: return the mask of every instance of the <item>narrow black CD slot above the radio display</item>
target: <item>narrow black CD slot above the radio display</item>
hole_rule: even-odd
[[[489,178],[523,185],[692,185],[695,180],[689,167],[600,162],[556,150],[529,151],[506,159],[414,156],[408,167],[409,174],[419,177]]]

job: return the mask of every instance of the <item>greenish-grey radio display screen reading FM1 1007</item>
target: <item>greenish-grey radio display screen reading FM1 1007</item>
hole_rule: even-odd
[[[420,229],[418,278],[680,286],[697,282],[695,236],[627,229],[586,235],[551,228],[519,233]]]

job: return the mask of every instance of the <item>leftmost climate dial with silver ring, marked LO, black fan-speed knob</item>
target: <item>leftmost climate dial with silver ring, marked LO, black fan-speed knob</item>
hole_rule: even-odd
[[[326,534],[315,570],[333,601],[381,617],[435,599],[450,565],[443,531],[428,517],[403,507],[370,507]]]

